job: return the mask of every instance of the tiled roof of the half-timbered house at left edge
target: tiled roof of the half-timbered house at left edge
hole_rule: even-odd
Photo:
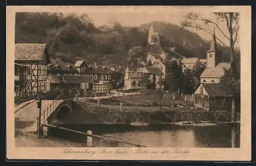
[[[16,43],[15,60],[41,61],[44,58],[46,44]]]

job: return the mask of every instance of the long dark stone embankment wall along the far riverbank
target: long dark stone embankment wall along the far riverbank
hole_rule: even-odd
[[[231,115],[227,110],[163,110],[162,112],[136,112],[110,110],[108,108],[92,107],[77,104],[78,110],[73,111],[63,124],[130,124],[130,123],[167,123],[178,121],[230,121]],[[240,115],[238,116],[240,119]]]

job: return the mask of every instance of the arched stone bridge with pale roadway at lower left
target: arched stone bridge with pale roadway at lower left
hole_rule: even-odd
[[[59,115],[61,116],[67,111],[72,112],[73,103],[73,98],[41,100],[41,116],[39,118],[37,100],[30,101],[14,113],[15,132],[36,132],[39,120],[40,124],[50,124]],[[40,125],[39,132],[47,134],[47,128]]]

